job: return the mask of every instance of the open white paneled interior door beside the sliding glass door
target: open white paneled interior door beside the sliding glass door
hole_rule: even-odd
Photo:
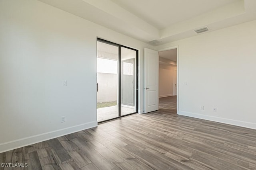
[[[158,51],[145,48],[145,113],[158,110]]]

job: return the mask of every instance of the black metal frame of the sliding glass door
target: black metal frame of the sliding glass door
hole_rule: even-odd
[[[138,75],[139,75],[139,70],[138,70],[138,54],[139,51],[130,47],[126,47],[124,45],[120,45],[120,44],[116,44],[116,43],[112,43],[110,41],[101,39],[101,38],[97,38],[97,41],[102,42],[102,43],[106,43],[109,45],[114,45],[116,47],[118,47],[118,117],[112,118],[112,119],[107,119],[104,121],[99,121],[98,123],[102,123],[105,121],[110,121],[113,119],[118,119],[120,117],[124,117],[124,116],[128,116],[128,115],[132,115],[135,113],[138,113],[138,84],[139,84],[139,79],[138,79]],[[129,113],[127,115],[121,115],[121,47],[130,49],[130,50],[134,50],[136,51],[136,112],[134,113]]]

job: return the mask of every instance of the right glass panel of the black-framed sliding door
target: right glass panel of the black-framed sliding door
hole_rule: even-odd
[[[121,47],[121,116],[136,113],[137,51]]]

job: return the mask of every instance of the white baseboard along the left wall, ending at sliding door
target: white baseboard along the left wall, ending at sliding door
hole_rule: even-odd
[[[56,131],[34,135],[31,137],[17,139],[17,140],[6,142],[6,143],[1,143],[0,153],[13,150],[13,149],[18,149],[20,147],[25,147],[28,145],[42,142],[42,141],[47,141],[49,139],[54,139],[56,137],[68,135],[70,133],[75,133],[75,132],[82,131],[82,130],[89,129],[96,126],[98,126],[98,122],[92,121],[92,122],[84,123],[81,125],[76,125],[73,127],[68,127],[68,128],[64,128]]]

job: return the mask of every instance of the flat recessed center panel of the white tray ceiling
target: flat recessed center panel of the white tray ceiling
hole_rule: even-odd
[[[164,29],[235,1],[237,0],[112,0],[157,29]]]

